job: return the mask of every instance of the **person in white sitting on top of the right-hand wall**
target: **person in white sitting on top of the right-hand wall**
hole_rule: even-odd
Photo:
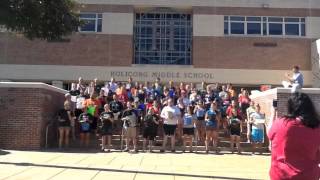
[[[293,66],[292,72],[292,76],[289,73],[285,74],[288,81],[282,81],[282,85],[285,88],[291,87],[291,91],[295,92],[303,87],[303,75],[300,72],[299,66]]]

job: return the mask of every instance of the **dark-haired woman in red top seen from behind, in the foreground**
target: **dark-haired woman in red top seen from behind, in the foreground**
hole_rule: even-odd
[[[268,132],[272,161],[270,178],[320,178],[320,120],[311,99],[294,93],[288,99],[288,115],[274,120]]]

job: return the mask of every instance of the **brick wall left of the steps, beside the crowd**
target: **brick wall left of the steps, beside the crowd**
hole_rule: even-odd
[[[0,83],[0,148],[43,148],[46,126],[63,107],[64,93],[42,83]],[[56,125],[49,132],[52,145],[57,142]]]

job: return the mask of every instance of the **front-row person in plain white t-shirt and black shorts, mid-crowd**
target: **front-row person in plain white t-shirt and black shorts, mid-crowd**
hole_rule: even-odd
[[[181,118],[181,112],[177,106],[174,106],[172,98],[168,99],[168,105],[162,109],[160,117],[163,118],[164,123],[164,137],[160,152],[165,151],[168,137],[171,137],[171,152],[175,152],[175,132]]]

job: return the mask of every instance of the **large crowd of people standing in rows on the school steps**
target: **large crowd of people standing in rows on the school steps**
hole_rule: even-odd
[[[231,84],[195,87],[193,83],[110,82],[99,85],[94,79],[86,85],[80,77],[65,95],[64,109],[59,112],[59,147],[68,147],[69,136],[80,137],[81,146],[89,146],[90,134],[102,139],[102,150],[111,151],[112,135],[125,139],[124,151],[138,151],[137,138],[144,138],[142,150],[152,151],[157,136],[163,137],[161,152],[168,139],[175,151],[176,139],[183,151],[193,144],[205,145],[219,152],[219,131],[230,136],[232,153],[241,153],[241,134],[247,124],[247,141],[261,151],[264,141],[265,115],[259,104],[249,98],[246,89],[238,94]],[[212,147],[211,147],[212,144]],[[148,148],[147,148],[148,145]],[[132,147],[132,148],[130,148]]]

